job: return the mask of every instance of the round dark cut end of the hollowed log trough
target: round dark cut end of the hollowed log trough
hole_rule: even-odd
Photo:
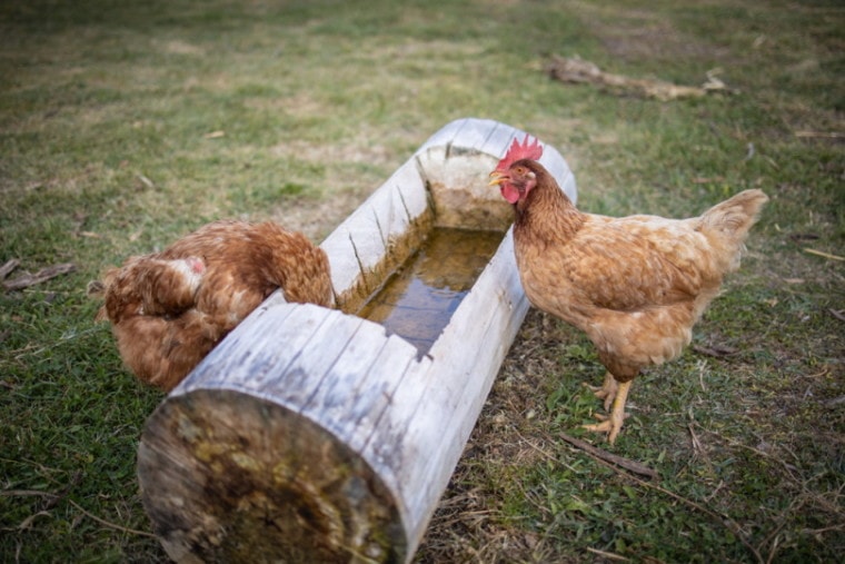
[[[233,390],[169,397],[138,454],[145,508],[176,562],[402,562],[369,465],[306,417]]]

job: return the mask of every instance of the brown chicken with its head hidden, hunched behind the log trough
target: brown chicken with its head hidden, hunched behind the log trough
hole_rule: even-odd
[[[161,253],[130,257],[89,287],[105,297],[126,365],[166,392],[274,290],[334,307],[328,258],[272,222],[208,224]]]

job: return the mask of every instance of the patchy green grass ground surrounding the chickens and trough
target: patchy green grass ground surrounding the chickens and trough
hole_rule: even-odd
[[[588,211],[772,201],[695,332],[733,354],[690,348],[634,384],[612,451],[659,483],[559,438],[592,439],[580,383],[603,370],[531,313],[417,561],[837,561],[845,263],[805,249],[845,248],[843,29],[824,1],[6,2],[0,263],[77,270],[0,294],[0,560],[165,558],[135,475],[161,395],[93,324],[88,280],[219,217],[319,240],[471,116],[560,149]],[[685,85],[718,68],[737,93],[565,86],[540,70],[550,53]]]

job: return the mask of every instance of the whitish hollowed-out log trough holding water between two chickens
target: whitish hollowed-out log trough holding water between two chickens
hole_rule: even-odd
[[[435,133],[322,243],[340,310],[270,296],[150,416],[138,477],[172,560],[410,561],[528,309],[513,210],[487,186],[515,136],[478,119]],[[563,157],[543,162],[575,199]],[[356,315],[456,227],[503,238],[434,338]]]

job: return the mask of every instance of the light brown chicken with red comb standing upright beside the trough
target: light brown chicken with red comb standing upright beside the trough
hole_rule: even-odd
[[[585,214],[537,162],[541,155],[536,139],[515,140],[490,186],[514,205],[516,261],[529,301],[585,332],[607,368],[596,396],[613,410],[586,427],[613,444],[633,379],[689,344],[724,276],[738,268],[768,198],[745,190],[689,219]]]

